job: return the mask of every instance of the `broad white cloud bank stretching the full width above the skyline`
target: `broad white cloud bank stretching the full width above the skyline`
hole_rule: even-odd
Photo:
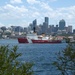
[[[15,3],[21,3],[21,0]],[[51,0],[49,0],[51,1]],[[53,0],[55,1],[55,0]],[[16,21],[17,24],[24,25],[32,22],[34,19],[38,20],[42,24],[44,17],[48,16],[50,18],[50,23],[56,23],[61,19],[65,19],[68,24],[75,23],[75,6],[64,7],[64,8],[52,8],[48,3],[43,2],[42,0],[27,0],[29,5],[13,5],[6,4],[0,7],[0,21],[10,21],[13,20],[13,24]],[[40,20],[43,21],[40,21]],[[25,21],[24,21],[25,20]],[[27,22],[27,23],[26,23]],[[22,23],[22,24],[21,24]],[[11,24],[11,23],[10,23]]]

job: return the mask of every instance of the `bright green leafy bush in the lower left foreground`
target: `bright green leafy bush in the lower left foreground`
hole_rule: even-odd
[[[17,53],[17,46],[9,49],[0,46],[0,75],[32,75],[31,63],[22,63],[17,60],[21,53]]]

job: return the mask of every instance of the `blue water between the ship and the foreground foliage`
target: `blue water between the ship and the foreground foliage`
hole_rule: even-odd
[[[17,39],[0,39],[0,45],[18,46],[18,52],[22,53],[21,62],[34,63],[34,75],[58,75],[59,72],[51,65],[56,59],[56,54],[66,47],[61,44],[19,44]]]

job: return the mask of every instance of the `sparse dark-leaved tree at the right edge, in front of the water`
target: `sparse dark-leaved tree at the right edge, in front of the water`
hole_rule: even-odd
[[[53,65],[61,72],[60,75],[75,75],[75,44],[70,43],[61,52],[57,53]]]

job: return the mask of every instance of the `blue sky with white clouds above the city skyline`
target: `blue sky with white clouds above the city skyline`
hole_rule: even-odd
[[[49,17],[49,24],[59,24],[75,28],[75,0],[0,0],[0,27],[27,27],[34,19],[43,24]]]

